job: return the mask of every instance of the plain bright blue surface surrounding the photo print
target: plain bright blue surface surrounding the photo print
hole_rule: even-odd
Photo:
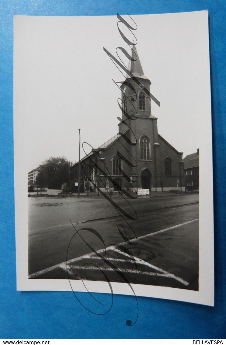
[[[103,316],[87,312],[68,292],[17,292],[13,181],[13,14],[101,16],[209,11],[212,87],[215,306],[116,295]],[[1,338],[201,339],[225,338],[225,0],[1,0],[0,1],[0,214]],[[211,162],[210,162],[211,163]],[[210,165],[211,166],[211,165]],[[208,253],[206,253],[208,255]],[[84,293],[78,294],[84,297]],[[98,294],[99,295],[99,294]],[[98,296],[100,298],[105,298]]]

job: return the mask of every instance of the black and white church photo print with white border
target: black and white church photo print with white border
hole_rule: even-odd
[[[208,12],[14,17],[18,290],[213,305]]]

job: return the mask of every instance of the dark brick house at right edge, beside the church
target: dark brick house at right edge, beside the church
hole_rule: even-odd
[[[186,190],[199,190],[199,149],[197,152],[187,155],[183,162]]]

